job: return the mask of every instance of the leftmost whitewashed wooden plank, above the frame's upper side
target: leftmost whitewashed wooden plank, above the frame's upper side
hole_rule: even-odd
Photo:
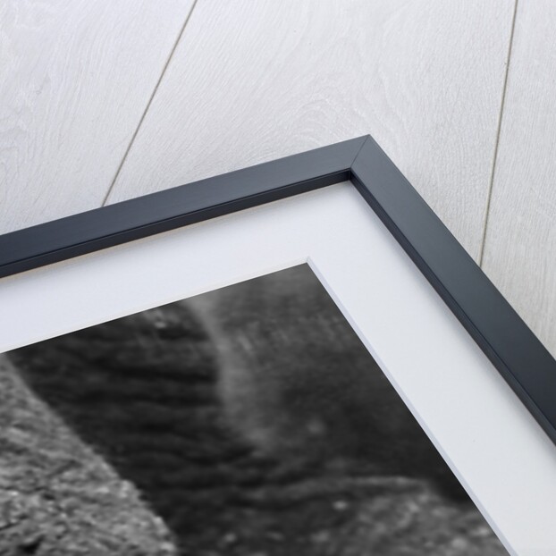
[[[191,1],[0,2],[0,233],[101,205]]]

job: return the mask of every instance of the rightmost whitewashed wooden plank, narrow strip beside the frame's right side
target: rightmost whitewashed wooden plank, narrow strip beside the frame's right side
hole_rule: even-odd
[[[520,2],[484,271],[556,356],[556,4]]]

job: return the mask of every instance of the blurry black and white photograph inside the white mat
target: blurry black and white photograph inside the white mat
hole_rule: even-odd
[[[3,555],[508,553],[308,265],[0,358]]]

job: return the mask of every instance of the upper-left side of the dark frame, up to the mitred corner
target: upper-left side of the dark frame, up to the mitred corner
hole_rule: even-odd
[[[0,236],[0,278],[350,179],[368,136]]]

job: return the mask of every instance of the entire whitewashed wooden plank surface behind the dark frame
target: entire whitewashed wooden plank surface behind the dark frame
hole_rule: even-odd
[[[0,6],[0,232],[371,133],[556,355],[556,4]]]

